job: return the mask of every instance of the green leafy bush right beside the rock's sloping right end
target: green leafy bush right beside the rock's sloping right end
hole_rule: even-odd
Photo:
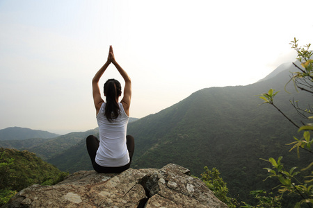
[[[212,170],[209,171],[209,168],[205,166],[204,172],[201,174],[201,180],[213,191],[214,195],[222,202],[225,202],[228,207],[236,207],[238,202],[236,199],[227,196],[228,189],[226,183],[223,181],[222,177],[220,177],[220,172],[217,168],[212,168]]]

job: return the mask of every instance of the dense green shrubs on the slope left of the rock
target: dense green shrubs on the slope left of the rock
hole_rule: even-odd
[[[0,201],[7,202],[16,191],[32,184],[52,185],[68,175],[42,161],[34,153],[0,148]]]

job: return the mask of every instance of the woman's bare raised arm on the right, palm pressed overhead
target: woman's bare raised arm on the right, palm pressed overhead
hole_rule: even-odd
[[[124,107],[125,113],[127,116],[129,116],[129,107],[131,103],[131,78],[128,76],[126,71],[120,67],[120,64],[116,62],[112,46],[110,46],[110,56],[111,56],[111,62],[114,64],[116,69],[118,69],[118,72],[122,76],[122,78],[125,80],[125,88],[124,88],[124,96],[122,98],[122,101],[120,101]]]

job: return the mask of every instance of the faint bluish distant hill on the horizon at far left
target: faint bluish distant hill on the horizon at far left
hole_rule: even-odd
[[[3,140],[21,140],[31,138],[49,139],[58,137],[54,133],[42,130],[31,130],[30,128],[9,127],[0,130],[0,141]]]

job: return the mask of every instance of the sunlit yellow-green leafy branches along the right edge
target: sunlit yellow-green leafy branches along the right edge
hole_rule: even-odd
[[[309,92],[310,94],[313,94],[312,88],[313,88],[313,60],[311,60],[311,56],[313,55],[312,51],[309,51],[310,45],[307,44],[306,46],[299,47],[298,46],[298,40],[294,38],[294,41],[291,41],[291,45],[293,49],[295,49],[298,53],[298,61],[302,62],[301,66],[302,68],[298,67],[300,71],[294,72],[293,76],[291,77],[291,80],[294,82],[294,86],[297,89],[301,89],[304,92]],[[296,65],[296,64],[295,64]],[[277,110],[280,111],[280,109],[274,105],[273,98],[277,94],[273,94],[273,89],[270,89],[267,94],[262,94],[260,98],[264,100],[264,103],[268,103],[270,105],[273,105]],[[309,105],[310,106],[310,105]],[[295,105],[294,105],[295,107]],[[306,112],[307,114],[312,114],[311,110],[301,110],[299,107],[296,107],[296,110],[298,112],[301,112],[301,115],[305,115],[303,112]],[[313,154],[311,150],[311,146],[313,143],[313,139],[311,137],[311,132],[313,130],[313,124],[307,123],[303,126],[299,127],[294,123],[294,121],[291,121],[288,116],[286,116],[282,111],[280,111],[291,123],[293,123],[297,128],[298,132],[303,132],[303,137],[301,139],[297,139],[297,137],[294,137],[296,141],[291,142],[289,145],[294,145],[289,150],[296,149],[297,155],[300,157],[300,149],[306,151],[307,153]],[[305,116],[304,116],[305,117]],[[313,116],[307,116],[307,119],[313,119]],[[311,157],[312,158],[312,157]],[[279,157],[276,161],[273,157],[270,157],[267,162],[271,163],[272,168],[264,168],[266,171],[268,171],[269,176],[277,178],[280,182],[278,185],[279,192],[282,193],[289,193],[300,196],[300,200],[296,202],[295,207],[300,207],[301,205],[306,204],[308,207],[313,206],[313,171],[312,166],[313,162],[307,161],[309,164],[307,164],[306,168],[302,168],[300,171],[303,172],[303,175],[300,175],[300,177],[296,177],[296,175],[299,175],[300,171],[296,171],[296,168],[298,166],[298,163],[296,166],[292,167],[289,171],[286,171],[284,168],[284,165],[281,163],[282,157]],[[307,173],[306,173],[307,172]]]

